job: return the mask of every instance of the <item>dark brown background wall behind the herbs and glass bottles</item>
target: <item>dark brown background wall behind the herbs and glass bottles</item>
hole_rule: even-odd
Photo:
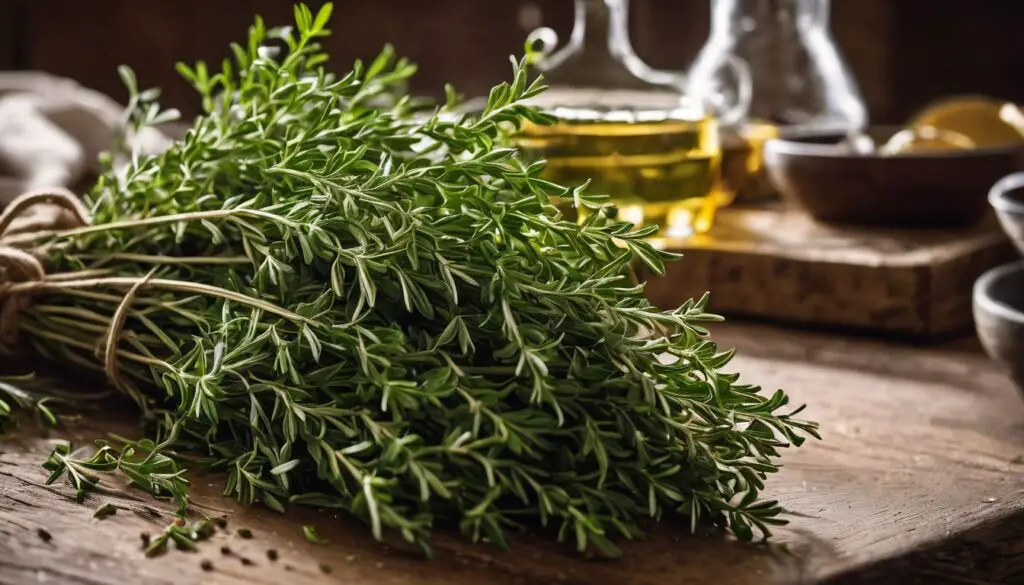
[[[631,8],[633,44],[654,67],[687,67],[707,38],[709,0]],[[127,64],[143,87],[164,88],[165,105],[195,112],[174,62],[219,61],[254,14],[282,25],[291,11],[290,0],[0,0],[0,69],[45,70],[122,97],[116,68]],[[571,0],[338,0],[327,44],[347,71],[391,42],[421,66],[415,90],[452,82],[473,95],[508,76],[508,55],[538,20],[565,33],[571,19]],[[876,122],[953,93],[1024,102],[1024,1],[835,0],[833,31]]]

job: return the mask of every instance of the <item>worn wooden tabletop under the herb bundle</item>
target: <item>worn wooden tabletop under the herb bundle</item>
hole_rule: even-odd
[[[914,348],[762,327],[722,325],[746,379],[810,404],[824,440],[786,454],[769,495],[792,512],[778,534],[793,554],[691,537],[664,526],[625,546],[617,561],[588,561],[543,538],[510,552],[438,537],[431,561],[381,545],[360,524],[316,510],[281,515],[220,497],[219,479],[194,478],[206,513],[233,531],[144,558],[139,533],[167,517],[131,513],[135,494],[76,504],[66,485],[43,487],[43,440],[8,441],[0,455],[0,583],[346,583],[615,585],[1024,582],[1024,404],[973,341]],[[96,506],[125,506],[97,520]],[[305,541],[302,525],[330,540]],[[45,529],[50,542],[38,536]],[[230,555],[221,554],[227,546]],[[280,558],[268,558],[268,549]],[[247,559],[248,562],[243,561]],[[204,559],[212,571],[201,568]],[[330,567],[330,574],[321,565]]]

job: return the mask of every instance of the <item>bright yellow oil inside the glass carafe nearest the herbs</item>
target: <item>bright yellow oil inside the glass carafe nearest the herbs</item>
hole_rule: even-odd
[[[702,234],[731,200],[721,180],[714,118],[681,108],[559,107],[549,113],[558,122],[527,125],[517,145],[527,158],[547,161],[549,180],[572,186],[590,180],[588,191],[608,195],[620,219],[657,224],[662,236]],[[569,205],[562,209],[578,213]]]

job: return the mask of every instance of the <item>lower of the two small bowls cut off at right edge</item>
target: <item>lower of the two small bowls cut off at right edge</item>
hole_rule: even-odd
[[[1024,262],[992,268],[974,285],[978,339],[1024,393]]]

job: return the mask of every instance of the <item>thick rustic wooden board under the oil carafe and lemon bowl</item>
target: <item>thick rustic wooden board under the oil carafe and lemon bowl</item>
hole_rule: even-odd
[[[975,279],[1014,257],[990,218],[959,231],[866,229],[784,207],[726,209],[712,234],[660,244],[685,257],[648,279],[659,306],[712,291],[726,317],[932,340],[973,330]]]

